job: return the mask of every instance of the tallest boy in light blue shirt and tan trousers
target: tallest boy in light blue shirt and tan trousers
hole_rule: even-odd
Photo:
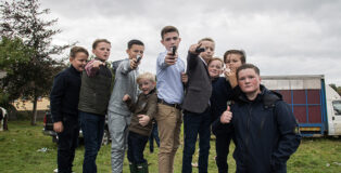
[[[159,54],[156,61],[159,172],[173,173],[175,154],[180,145],[180,104],[184,98],[181,72],[185,72],[185,63],[176,52],[181,41],[178,29],[165,26],[161,30],[161,39],[166,50]]]

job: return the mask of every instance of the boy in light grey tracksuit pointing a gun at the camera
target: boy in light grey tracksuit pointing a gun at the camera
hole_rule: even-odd
[[[131,111],[122,101],[125,94],[130,96],[136,103],[138,96],[138,58],[143,57],[144,44],[140,40],[130,40],[126,50],[128,58],[122,61],[115,72],[115,81],[110,103],[108,107],[108,125],[112,139],[111,162],[112,172],[123,171],[123,161],[127,146],[128,125],[130,123]]]

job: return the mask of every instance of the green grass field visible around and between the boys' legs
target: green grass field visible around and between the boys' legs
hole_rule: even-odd
[[[50,136],[41,133],[42,123],[29,125],[29,121],[10,121],[8,132],[0,132],[0,172],[1,173],[51,173],[56,168],[56,145]],[[215,147],[211,142],[209,172],[216,173],[214,162]],[[148,146],[147,146],[148,147]],[[38,151],[47,148],[47,151]],[[230,146],[233,150],[235,146]],[[98,172],[111,172],[110,145],[103,146],[98,155]],[[334,173],[341,172],[341,138],[304,138],[298,151],[288,161],[288,172],[294,173]],[[74,171],[81,172],[84,146],[76,150]],[[157,148],[153,154],[146,149],[144,156],[150,163],[151,173],[157,172]],[[175,173],[181,172],[182,148],[179,148],[175,160]],[[193,161],[198,160],[198,147]],[[228,158],[229,172],[235,172],[236,163],[231,155]],[[129,172],[125,159],[124,171]],[[193,169],[193,172],[198,170]]]

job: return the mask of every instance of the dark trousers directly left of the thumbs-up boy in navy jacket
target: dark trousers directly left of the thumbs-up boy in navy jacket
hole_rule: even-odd
[[[216,135],[215,149],[216,149],[216,164],[219,173],[228,172],[227,156],[229,152],[229,146],[232,135],[227,133],[220,133]]]

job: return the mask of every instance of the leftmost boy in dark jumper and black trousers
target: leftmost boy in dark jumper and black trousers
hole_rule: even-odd
[[[58,172],[71,173],[75,158],[75,149],[79,134],[78,101],[80,75],[87,63],[89,53],[81,46],[70,51],[71,66],[54,77],[50,94],[53,130],[58,142]]]

